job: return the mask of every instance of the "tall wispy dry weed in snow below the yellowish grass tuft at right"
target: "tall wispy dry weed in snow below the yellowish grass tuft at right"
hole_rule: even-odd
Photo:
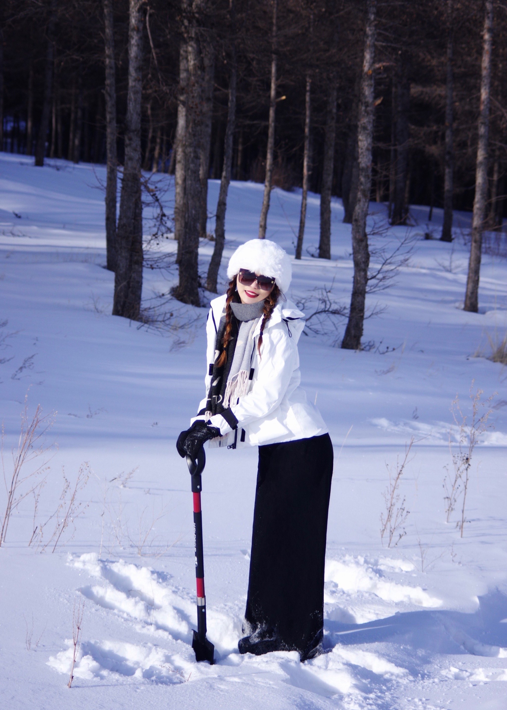
[[[491,425],[488,424],[489,415],[493,411],[491,409],[491,400],[496,397],[496,392],[485,400],[481,400],[483,390],[477,390],[473,393],[474,380],[470,386],[471,399],[471,422],[468,423],[469,417],[464,415],[459,404],[459,397],[456,395],[452,400],[451,412],[455,425],[458,427],[457,434],[457,452],[452,450],[452,431],[449,432],[449,452],[452,457],[452,474],[447,474],[444,478],[443,488],[445,490],[445,513],[446,520],[449,523],[453,510],[457,506],[457,502],[461,496],[461,514],[460,519],[456,523],[459,528],[459,534],[463,537],[464,524],[467,522],[465,517],[465,507],[467,505],[467,493],[470,482],[471,459],[474,454],[476,444],[479,442],[479,437],[484,434]]]

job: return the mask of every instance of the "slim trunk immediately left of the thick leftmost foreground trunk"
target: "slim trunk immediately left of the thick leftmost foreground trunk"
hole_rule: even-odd
[[[116,62],[113,0],[104,0],[104,69],[106,99],[106,253],[107,268],[116,271]]]

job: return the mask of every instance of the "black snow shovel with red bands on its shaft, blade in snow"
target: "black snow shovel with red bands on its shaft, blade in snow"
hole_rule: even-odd
[[[197,454],[197,461],[187,455],[194,497],[195,584],[197,586],[197,631],[193,630],[192,648],[195,651],[196,661],[209,661],[213,665],[214,645],[206,638],[205,561],[202,553],[201,474],[205,464],[206,454],[202,447]]]

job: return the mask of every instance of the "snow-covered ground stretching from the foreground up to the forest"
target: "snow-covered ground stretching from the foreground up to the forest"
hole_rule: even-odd
[[[506,259],[484,255],[480,313],[464,312],[469,215],[456,215],[456,240],[442,244],[424,239],[427,209],[414,207],[410,261],[391,288],[367,300],[370,312],[384,307],[365,322],[368,349],[333,346],[343,320],[334,335],[300,339],[302,386],[329,426],[335,461],[327,652],[317,659],[300,664],[295,653],[239,655],[257,452],[209,450],[202,506],[208,638],[218,662],[197,665],[190,646],[190,476],[175,439],[203,395],[207,310],[173,302],[172,326],[163,333],[109,315],[113,275],[104,269],[104,180],[102,166],[48,160],[45,168],[34,168],[32,158],[0,155],[7,477],[25,397],[29,417],[39,403],[44,415],[56,413],[45,435],[50,450],[23,469],[24,476],[45,461],[49,467],[22,484],[28,490],[46,476],[36,515],[31,495],[13,512],[0,548],[1,706],[504,709],[507,371],[486,356],[489,339],[501,341],[507,331]],[[231,184],[224,262],[241,241],[257,235],[262,191],[262,185]],[[210,181],[210,214],[217,193],[218,183]],[[170,209],[170,190],[163,199]],[[299,207],[297,191],[273,191],[267,236],[291,254]],[[373,203],[371,213],[372,223],[385,217]],[[437,236],[440,220],[436,209],[430,228]],[[326,285],[347,305],[350,225],[342,224],[339,200],[332,206],[330,262],[305,251],[315,250],[318,224],[319,198],[310,195],[305,256],[294,263],[291,297],[307,299]],[[392,250],[406,232],[378,234],[374,246]],[[173,246],[164,243],[165,251]],[[202,274],[212,246],[206,242],[200,250]],[[224,285],[224,268],[221,277]],[[146,269],[144,297],[167,293],[174,278],[175,272]],[[483,400],[492,397],[493,427],[474,449],[461,538],[461,501],[447,523],[442,484],[453,471],[449,436],[457,450],[452,400],[458,394],[469,415],[471,388],[484,391]],[[380,535],[386,464],[396,471],[411,437],[398,501],[405,499],[409,511],[406,535],[388,547]],[[2,492],[0,515],[5,505]],[[73,521],[65,527],[67,513],[67,522]],[[28,546],[37,525],[42,535],[39,527]],[[82,636],[67,689],[72,611],[80,600]]]

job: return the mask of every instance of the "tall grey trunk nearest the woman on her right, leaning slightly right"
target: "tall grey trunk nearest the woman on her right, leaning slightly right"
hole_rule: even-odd
[[[350,300],[349,321],[345,329],[342,348],[357,350],[361,347],[364,322],[364,302],[368,284],[370,253],[366,234],[366,217],[371,190],[371,146],[374,135],[374,58],[376,30],[376,0],[367,0],[364,61],[361,77],[361,102],[357,142],[359,154],[359,187],[356,207],[352,217],[352,253],[354,257],[354,283]]]

